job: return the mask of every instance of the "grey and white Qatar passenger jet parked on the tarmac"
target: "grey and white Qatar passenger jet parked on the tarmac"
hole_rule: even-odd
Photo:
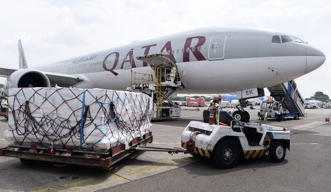
[[[6,87],[103,88],[131,86],[131,69],[153,74],[136,57],[161,53],[177,65],[183,89],[177,93],[229,93],[265,88],[301,77],[320,67],[325,54],[299,37],[254,27],[196,29],[28,68],[19,41],[20,69],[0,68]],[[239,92],[238,92],[239,91]],[[238,93],[241,95],[239,96]],[[264,95],[264,94],[263,94]]]

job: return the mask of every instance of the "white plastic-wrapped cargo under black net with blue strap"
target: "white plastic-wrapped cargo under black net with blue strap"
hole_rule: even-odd
[[[152,100],[143,93],[105,89],[9,90],[12,145],[107,152],[150,132]]]

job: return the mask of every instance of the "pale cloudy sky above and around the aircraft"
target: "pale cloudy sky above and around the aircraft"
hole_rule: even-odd
[[[28,66],[37,67],[191,29],[256,26],[289,32],[322,50],[325,63],[296,82],[304,98],[316,91],[331,97],[330,10],[329,0],[2,1],[0,67],[19,67],[19,39]]]

